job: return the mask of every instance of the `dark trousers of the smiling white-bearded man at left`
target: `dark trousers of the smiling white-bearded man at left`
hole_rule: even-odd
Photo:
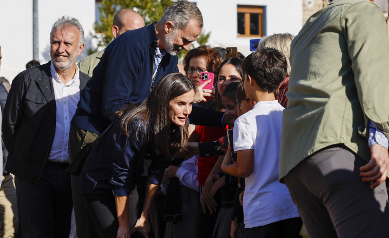
[[[40,185],[16,177],[23,238],[69,237],[73,201],[68,166],[48,162]]]

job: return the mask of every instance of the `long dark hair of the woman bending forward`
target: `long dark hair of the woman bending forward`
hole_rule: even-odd
[[[194,89],[192,81],[179,72],[165,75],[139,106],[118,112],[122,132],[129,137],[129,130],[135,126],[138,140],[142,136],[144,143],[153,143],[165,157],[172,158],[176,150],[187,146],[188,121],[184,126],[170,124],[170,100]]]

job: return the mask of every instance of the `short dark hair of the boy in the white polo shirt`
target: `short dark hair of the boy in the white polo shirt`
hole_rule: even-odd
[[[243,61],[242,69],[262,90],[275,93],[286,76],[288,64],[281,51],[264,47],[249,54]]]

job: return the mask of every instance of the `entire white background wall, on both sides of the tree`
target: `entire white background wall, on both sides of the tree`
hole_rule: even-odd
[[[237,5],[266,6],[266,32],[297,34],[302,27],[302,0],[192,0],[204,18],[204,30],[211,31],[210,45],[237,47],[247,56],[249,40],[237,36]],[[76,17],[85,33],[85,48],[96,47],[91,39],[94,32],[95,0],[38,0],[39,60],[50,60],[49,35],[51,25],[62,15]],[[2,65],[0,76],[12,80],[32,60],[32,0],[0,0],[0,46]]]

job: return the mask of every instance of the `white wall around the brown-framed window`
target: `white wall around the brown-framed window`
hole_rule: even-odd
[[[303,26],[302,0],[193,0],[202,12],[204,30],[211,31],[212,47],[237,47],[247,56],[250,37],[237,36],[237,5],[266,6],[267,34],[296,35]]]

